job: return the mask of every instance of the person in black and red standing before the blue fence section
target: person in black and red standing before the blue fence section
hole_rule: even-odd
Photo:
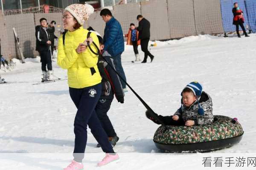
[[[239,8],[238,3],[234,3],[234,8],[232,9],[234,18],[233,18],[233,25],[236,25],[236,33],[239,38],[241,38],[239,34],[239,26],[241,26],[242,30],[244,31],[245,37],[250,37],[247,35],[245,28],[244,28],[244,12]]]

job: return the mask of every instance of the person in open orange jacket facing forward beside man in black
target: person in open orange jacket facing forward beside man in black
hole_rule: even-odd
[[[138,52],[138,45],[140,45],[140,40],[138,40],[139,31],[135,29],[134,23],[130,24],[128,34],[125,34],[124,37],[127,37],[127,45],[132,45],[134,48],[135,61],[140,61],[140,54]]]

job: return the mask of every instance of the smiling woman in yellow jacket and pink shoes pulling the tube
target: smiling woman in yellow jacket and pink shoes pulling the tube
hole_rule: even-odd
[[[65,8],[63,23],[64,28],[68,31],[64,34],[64,41],[62,35],[58,41],[58,65],[68,70],[70,97],[78,109],[74,122],[74,160],[64,170],[83,169],[81,162],[84,159],[87,142],[87,125],[106,153],[105,158],[98,163],[98,166],[119,159],[95,112],[101,95],[102,78],[97,68],[98,56],[87,48],[86,39],[89,31],[82,27],[84,21],[88,20],[93,11],[93,7],[88,4],[72,4]],[[92,33],[90,37],[90,40],[99,46],[96,34]],[[96,51],[95,47],[93,51]]]

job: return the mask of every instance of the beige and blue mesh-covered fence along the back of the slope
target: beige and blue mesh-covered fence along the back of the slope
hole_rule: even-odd
[[[136,17],[142,14],[151,23],[151,40],[168,40],[198,34],[220,34],[234,31],[232,25],[232,7],[234,0],[129,0],[127,4],[113,6],[113,16],[122,26],[123,33],[127,34],[130,23],[138,26]],[[246,15],[246,24],[251,24],[256,30],[255,14],[256,0],[236,0]],[[116,2],[120,2],[116,0]],[[246,6],[247,5],[247,6]],[[248,11],[247,11],[247,10]],[[17,57],[12,27],[15,27],[20,37],[20,43],[25,57],[33,57],[35,51],[35,26],[39,25],[41,17],[47,18],[48,22],[55,20],[59,28],[62,28],[61,16],[64,9],[41,6],[39,9],[23,9],[23,14],[17,10],[4,11],[6,16],[0,15],[0,38],[2,54],[6,57]],[[93,27],[102,36],[105,23],[99,15],[100,11],[94,12],[84,28]],[[29,13],[29,14],[24,14]],[[56,32],[59,36],[59,33]]]

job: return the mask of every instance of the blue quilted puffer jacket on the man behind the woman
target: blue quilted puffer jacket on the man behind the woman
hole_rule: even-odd
[[[114,17],[106,23],[103,43],[105,45],[104,51],[108,51],[108,53],[113,57],[118,54],[122,54],[125,50],[122,27]]]

